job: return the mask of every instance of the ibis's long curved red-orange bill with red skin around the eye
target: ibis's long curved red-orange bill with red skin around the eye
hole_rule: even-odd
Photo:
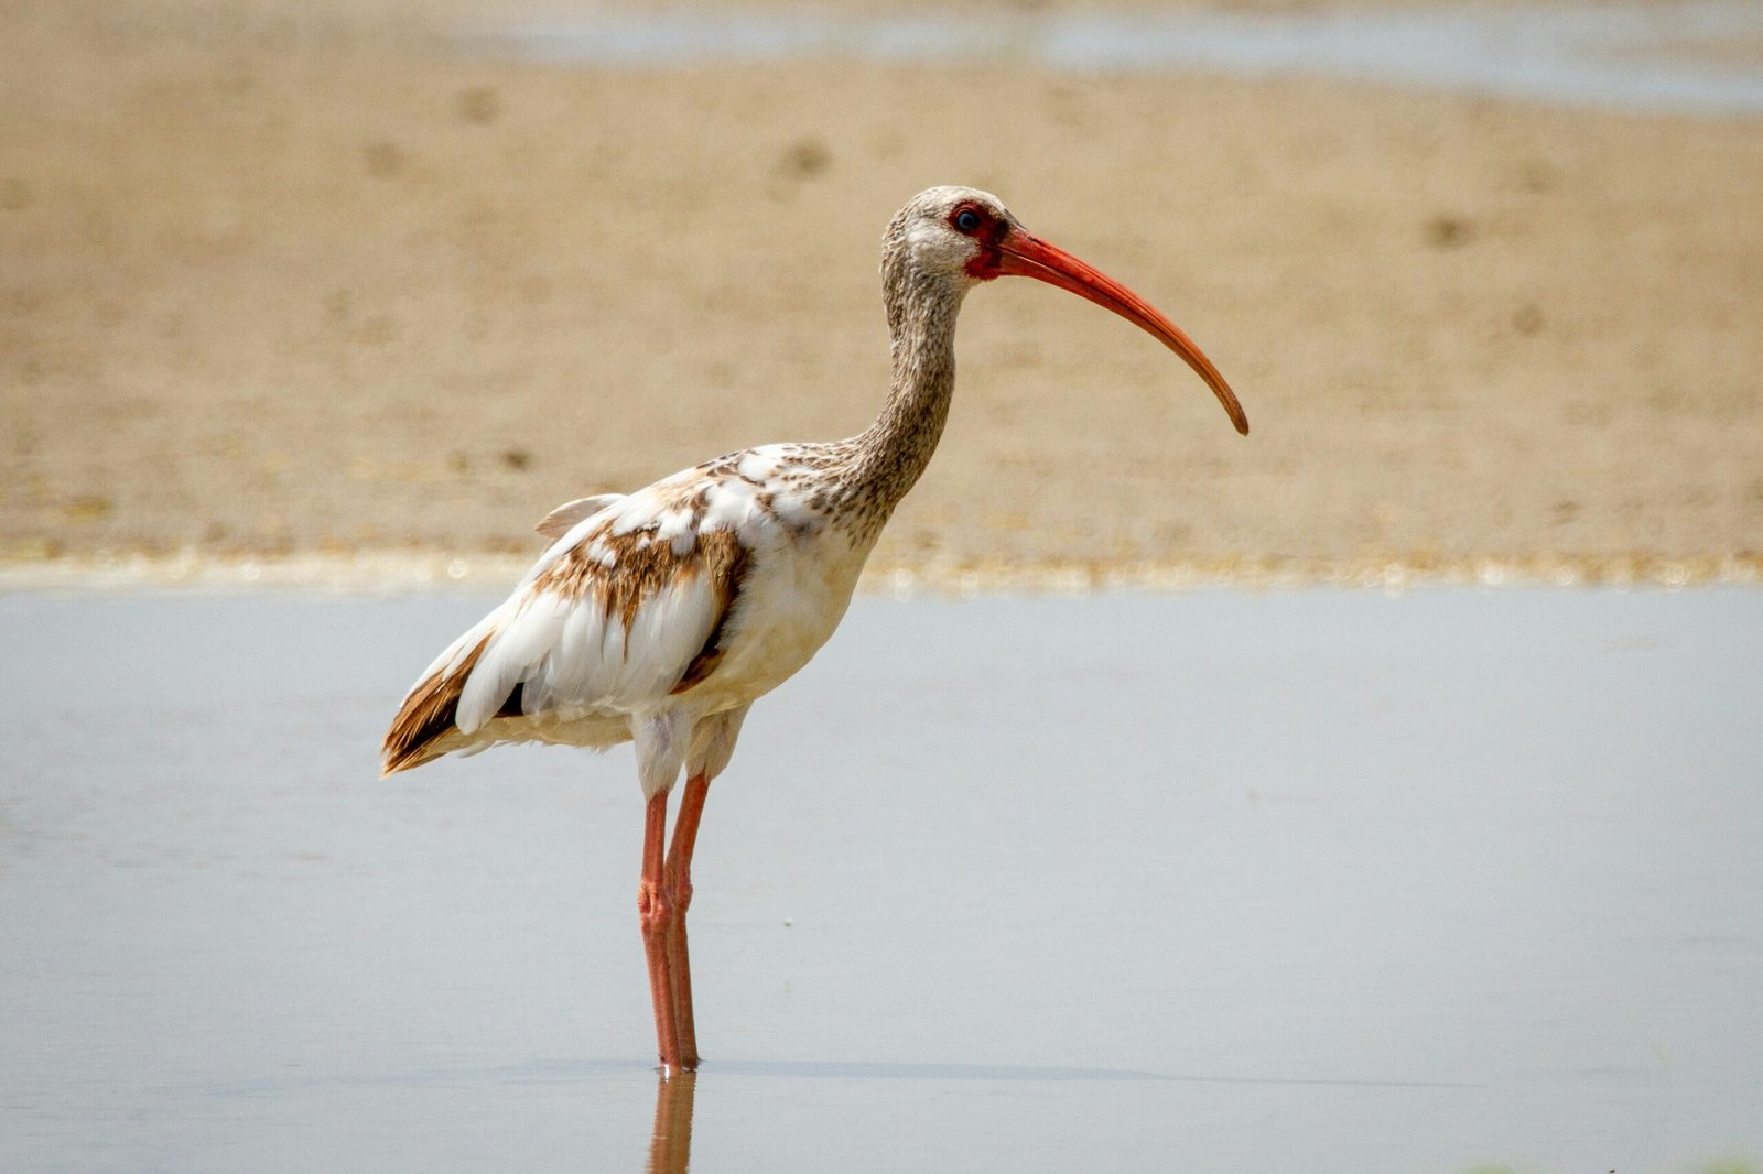
[[[971,229],[961,224],[966,213],[973,213],[978,220]],[[1211,365],[1211,360],[1201,353],[1194,340],[1179,326],[1158,314],[1149,301],[1063,249],[1056,249],[1038,236],[1024,233],[1015,224],[1001,220],[984,204],[957,204],[948,213],[948,226],[963,236],[971,236],[978,241],[980,250],[978,256],[968,261],[968,275],[982,282],[989,282],[994,277],[1033,277],[1120,314],[1179,354],[1194,368],[1194,374],[1206,381],[1206,386],[1213,390],[1218,402],[1224,404],[1224,411],[1231,416],[1236,430],[1248,435],[1248,416],[1243,414],[1243,405],[1236,402],[1231,384],[1224,381],[1224,375],[1218,374],[1218,368]]]

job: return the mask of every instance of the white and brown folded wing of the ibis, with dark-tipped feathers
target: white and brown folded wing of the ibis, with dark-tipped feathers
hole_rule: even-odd
[[[709,677],[751,554],[739,532],[749,511],[719,488],[688,471],[573,522],[418,679],[386,735],[386,770],[497,717],[614,717]]]

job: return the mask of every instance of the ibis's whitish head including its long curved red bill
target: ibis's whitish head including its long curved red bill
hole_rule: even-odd
[[[889,287],[927,280],[959,298],[998,277],[1033,277],[1120,314],[1179,354],[1218,397],[1236,430],[1248,435],[1248,416],[1236,393],[1192,338],[1112,277],[1030,233],[991,192],[926,189],[899,210],[883,245],[883,282]],[[894,266],[906,271],[890,271]]]

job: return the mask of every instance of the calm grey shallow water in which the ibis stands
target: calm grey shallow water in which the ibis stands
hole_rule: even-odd
[[[0,596],[0,1169],[1763,1162],[1763,592],[860,599],[710,795],[374,779],[492,599]]]

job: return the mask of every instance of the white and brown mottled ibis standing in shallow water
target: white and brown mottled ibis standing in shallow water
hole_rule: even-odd
[[[698,1066],[686,955],[691,850],[748,707],[837,628],[882,527],[931,460],[956,386],[956,314],[994,277],[1035,277],[1114,310],[1224,375],[1125,286],[1031,236],[996,196],[933,187],[882,243],[894,386],[864,432],[718,457],[635,494],[584,497],[506,603],[435,658],[386,733],[384,770],[502,742],[636,744],[647,800],[636,911],[661,1072]],[[686,770],[672,846],[668,791]]]

